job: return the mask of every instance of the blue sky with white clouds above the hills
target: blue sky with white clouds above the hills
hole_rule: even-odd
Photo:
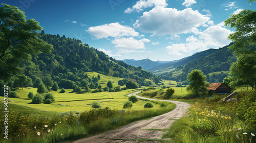
[[[229,44],[231,14],[247,1],[3,0],[40,22],[46,33],[80,39],[115,59],[172,61]]]

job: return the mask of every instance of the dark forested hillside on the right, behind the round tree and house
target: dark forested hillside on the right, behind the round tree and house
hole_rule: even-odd
[[[175,64],[176,66],[179,66],[176,67],[176,70],[169,73],[161,74],[160,76],[162,79],[172,79],[181,82],[186,81],[187,74],[194,69],[199,69],[203,71],[204,75],[208,75],[216,71],[228,71],[231,63],[236,62],[236,56],[233,55],[232,50],[228,50],[228,46],[230,45],[232,45],[232,43],[219,49],[209,49],[201,53],[194,54],[193,56],[185,59],[189,60],[194,58],[194,60],[189,61],[185,65],[182,65],[180,63],[183,61],[180,61],[179,63],[177,62]],[[174,72],[179,70],[181,71],[181,74],[173,76]],[[224,76],[223,75],[224,73],[222,73],[222,75],[219,75],[219,77],[222,78],[217,78],[218,76],[216,77],[216,74],[213,75],[215,78],[212,78],[212,75],[208,75],[207,80],[210,82],[222,82],[223,77],[225,78],[227,76],[226,74]]]

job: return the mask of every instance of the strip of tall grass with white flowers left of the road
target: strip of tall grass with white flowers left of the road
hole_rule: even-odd
[[[68,115],[56,115],[49,117],[30,117],[19,113],[10,113],[8,131],[10,139],[3,138],[4,127],[1,129],[1,142],[65,142],[79,139],[96,133],[109,131],[127,125],[134,121],[143,120],[169,112],[175,108],[175,104],[168,104],[165,108],[145,110],[113,110],[93,109],[90,111]],[[0,123],[4,124],[1,116]]]

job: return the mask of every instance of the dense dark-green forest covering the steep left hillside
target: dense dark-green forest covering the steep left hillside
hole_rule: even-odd
[[[24,70],[24,74],[12,76],[9,80],[1,80],[1,84],[7,84],[9,87],[37,87],[40,83],[44,83],[46,87],[51,87],[56,82],[59,87],[66,89],[73,89],[74,85],[81,88],[89,85],[94,89],[97,88],[95,85],[100,77],[88,78],[86,73],[90,71],[113,77],[136,79],[138,83],[155,77],[141,66],[135,67],[115,60],[102,51],[83,44],[81,40],[66,38],[65,35],[60,37],[59,34],[45,34],[44,31],[37,36],[53,45],[52,52],[31,55],[31,60],[22,61],[19,65],[19,68]]]

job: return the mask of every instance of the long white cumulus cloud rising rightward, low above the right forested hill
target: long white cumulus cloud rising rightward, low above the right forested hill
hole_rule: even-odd
[[[166,47],[168,54],[181,56],[182,52],[203,51],[209,48],[222,47],[231,41],[227,39],[231,31],[221,26],[211,26],[199,34],[199,37],[189,36],[186,43],[172,44]]]

